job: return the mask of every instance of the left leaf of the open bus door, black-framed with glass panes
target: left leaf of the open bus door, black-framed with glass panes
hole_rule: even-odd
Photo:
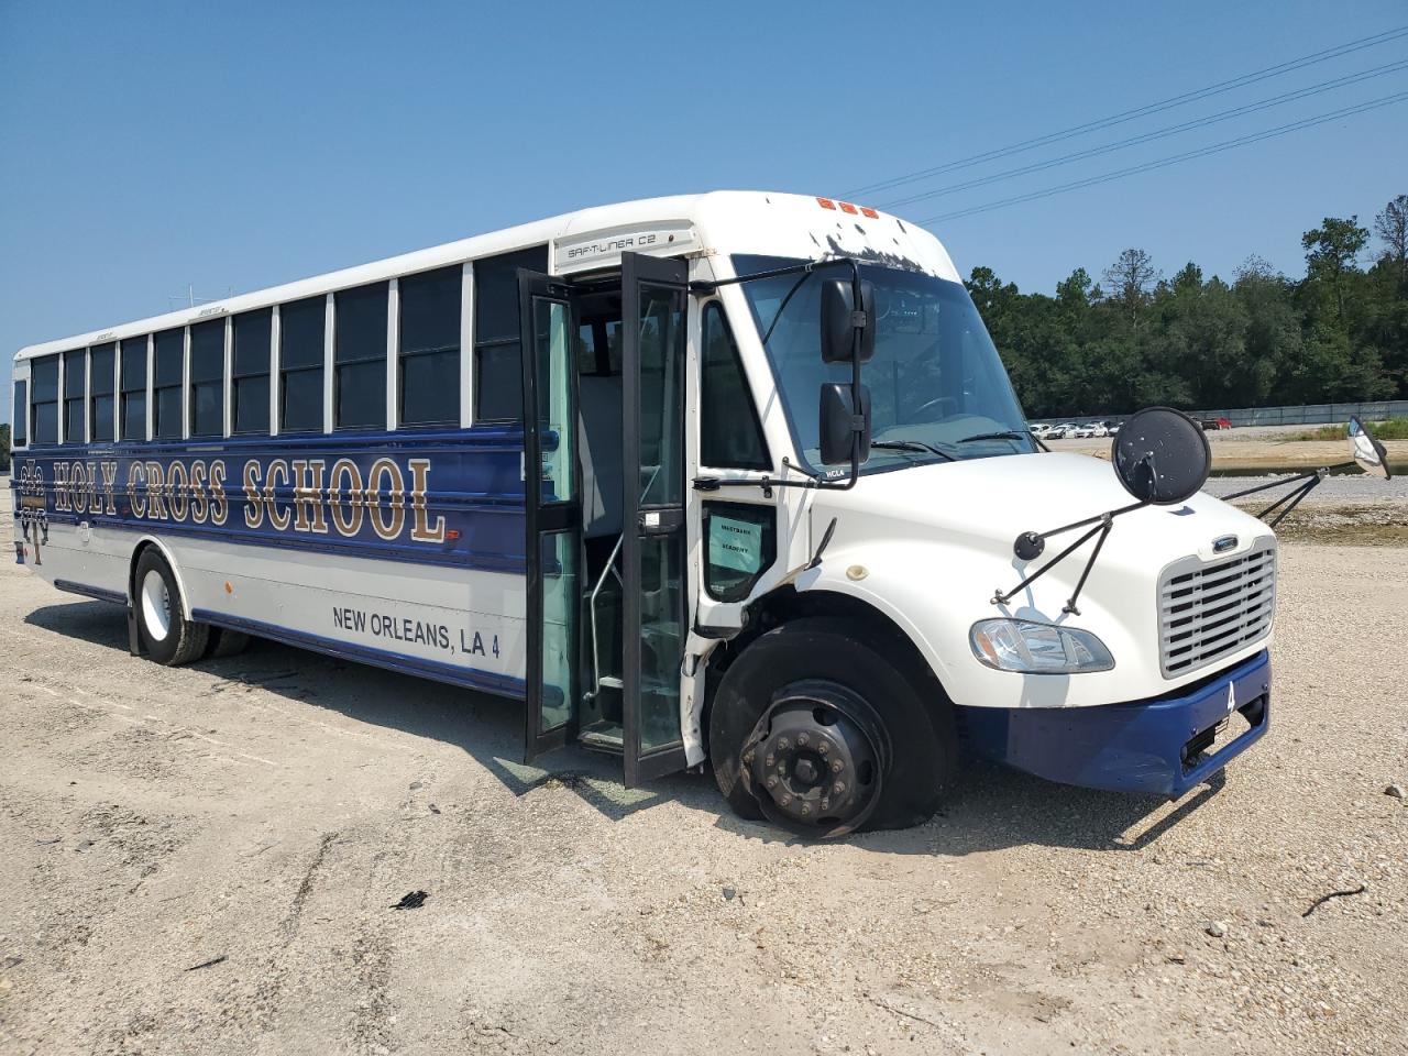
[[[527,762],[576,734],[582,501],[567,289],[545,275],[520,272],[518,293],[528,522]]]

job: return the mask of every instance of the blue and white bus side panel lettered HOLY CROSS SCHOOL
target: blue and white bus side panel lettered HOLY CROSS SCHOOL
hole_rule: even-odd
[[[51,448],[14,489],[55,586],[125,600],[152,538],[196,620],[522,696],[518,431]]]

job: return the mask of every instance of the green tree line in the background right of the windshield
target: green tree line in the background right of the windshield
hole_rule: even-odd
[[[1022,293],[967,280],[1032,418],[1408,398],[1408,194],[1304,234],[1305,276],[1250,256],[1231,282],[1190,262],[1167,279],[1125,249],[1094,282]]]

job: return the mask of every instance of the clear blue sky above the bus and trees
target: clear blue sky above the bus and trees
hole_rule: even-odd
[[[849,189],[1408,24],[1402,0],[0,0],[0,420],[23,345],[634,197]],[[1408,59],[1408,38],[905,191]],[[924,220],[1408,90],[1408,69],[901,210]],[[1302,270],[1408,193],[1408,103],[936,225],[1022,289],[1125,246]],[[904,191],[859,199],[884,204]]]

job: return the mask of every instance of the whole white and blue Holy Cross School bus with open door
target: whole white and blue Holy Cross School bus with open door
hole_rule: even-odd
[[[17,559],[134,652],[522,700],[525,758],[708,760],[804,834],[926,818],[960,750],[1176,797],[1269,725],[1273,532],[1167,422],[1042,451],[938,239],[850,203],[451,242],[25,348],[14,407]]]

